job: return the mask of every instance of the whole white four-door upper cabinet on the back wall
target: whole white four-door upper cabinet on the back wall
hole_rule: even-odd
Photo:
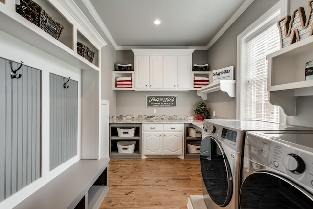
[[[132,49],[136,91],[191,90],[194,49]]]

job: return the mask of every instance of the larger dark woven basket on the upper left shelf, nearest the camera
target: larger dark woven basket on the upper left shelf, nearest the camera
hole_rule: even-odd
[[[54,20],[45,10],[32,0],[20,0],[21,5],[15,5],[17,13],[31,23],[34,23],[50,36],[59,39],[63,26]]]

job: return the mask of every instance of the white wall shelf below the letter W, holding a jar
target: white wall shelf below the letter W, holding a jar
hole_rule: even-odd
[[[305,64],[313,60],[313,36],[267,56],[269,101],[296,114],[296,97],[313,95],[313,80],[305,80]]]

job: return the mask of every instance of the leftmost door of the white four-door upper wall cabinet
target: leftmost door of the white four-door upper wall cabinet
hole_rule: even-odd
[[[149,56],[135,56],[135,88],[149,88]]]

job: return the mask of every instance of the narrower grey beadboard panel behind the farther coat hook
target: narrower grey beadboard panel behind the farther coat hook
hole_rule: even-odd
[[[78,83],[67,85],[63,88],[63,77],[50,73],[50,170],[77,155]]]

